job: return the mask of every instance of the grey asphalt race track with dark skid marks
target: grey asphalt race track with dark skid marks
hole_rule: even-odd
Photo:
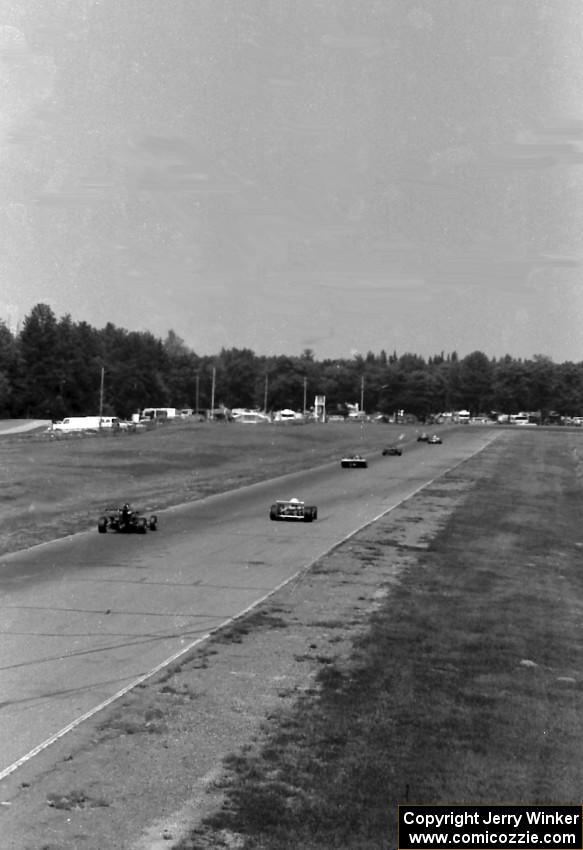
[[[144,536],[96,528],[0,558],[0,779],[499,432],[442,433],[161,512]],[[292,496],[318,520],[270,522]]]

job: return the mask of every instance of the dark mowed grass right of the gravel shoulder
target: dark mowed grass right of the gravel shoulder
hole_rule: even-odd
[[[405,802],[580,804],[583,527],[570,439],[521,434],[471,461],[476,487],[348,667],[322,666],[319,690],[231,757],[223,809],[180,850],[223,846],[208,829],[245,850],[396,847]]]

